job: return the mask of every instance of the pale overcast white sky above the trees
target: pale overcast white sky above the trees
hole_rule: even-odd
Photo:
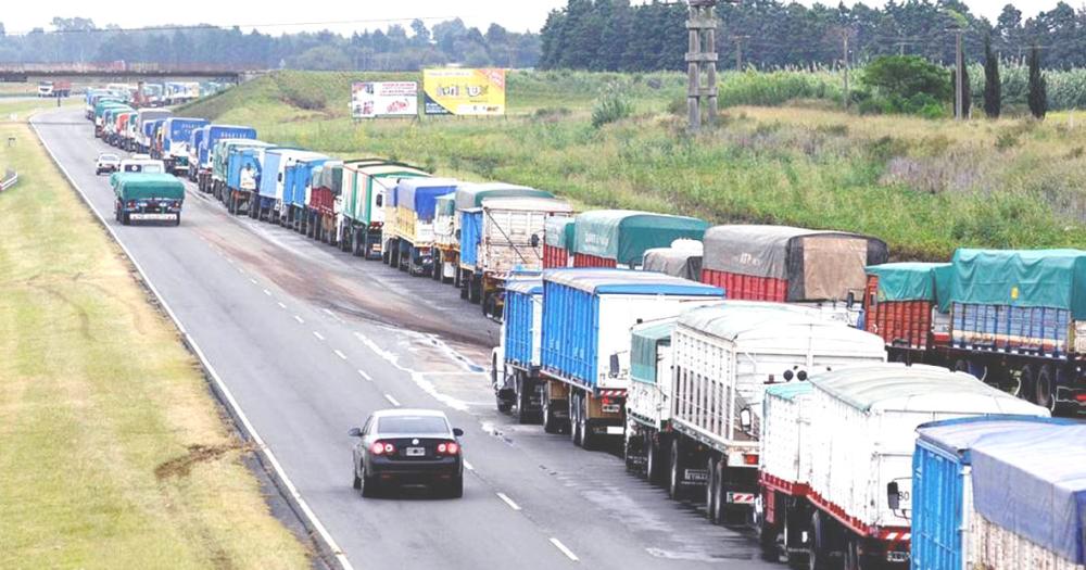
[[[822,0],[825,4],[836,4],[837,0]],[[641,0],[634,0],[640,3]],[[884,0],[868,0],[868,5],[882,5]],[[1008,0],[965,0],[973,13],[987,16],[995,21]],[[1041,10],[1050,10],[1058,0],[1016,0],[1015,5],[1025,14],[1033,16]],[[270,34],[296,31],[301,29],[332,29],[350,34],[356,29],[384,27],[388,20],[402,20],[406,24],[412,18],[434,18],[427,21],[428,25],[459,16],[470,26],[485,30],[492,22],[506,28],[523,31],[539,30],[546,20],[547,12],[566,4],[566,0],[400,0],[383,2],[378,0],[361,0],[345,2],[344,0],[266,0],[255,3],[240,0],[185,0],[180,3],[160,3],[153,10],[140,9],[138,3],[118,10],[103,11],[101,2],[86,0],[51,0],[46,7],[23,4],[14,0],[0,13],[0,22],[10,33],[28,31],[35,27],[49,29],[53,16],[90,17],[99,26],[117,24],[122,27],[159,26],[167,24],[191,25],[213,24],[218,26],[242,25],[248,31],[253,25]],[[800,0],[810,5],[813,0]],[[855,3],[845,0],[846,4]],[[1081,1],[1070,2],[1076,8]],[[260,9],[254,7],[260,5]],[[298,10],[304,5],[305,10]],[[343,10],[349,5],[351,10]],[[184,7],[184,10],[174,8]],[[277,9],[281,7],[281,9]],[[96,9],[97,8],[97,9]],[[103,14],[106,13],[106,14]],[[326,24],[330,22],[354,21],[351,23]],[[379,22],[386,21],[386,22]],[[276,24],[304,23],[301,26],[281,26]]]

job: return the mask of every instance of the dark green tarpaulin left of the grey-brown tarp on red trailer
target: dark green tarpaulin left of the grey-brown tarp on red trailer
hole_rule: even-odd
[[[596,210],[576,219],[573,252],[640,265],[645,250],[678,239],[702,240],[708,224],[697,218],[628,210]]]

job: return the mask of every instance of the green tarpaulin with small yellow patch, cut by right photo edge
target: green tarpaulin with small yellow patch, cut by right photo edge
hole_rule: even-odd
[[[961,249],[951,263],[951,303],[1063,308],[1086,319],[1086,251]]]

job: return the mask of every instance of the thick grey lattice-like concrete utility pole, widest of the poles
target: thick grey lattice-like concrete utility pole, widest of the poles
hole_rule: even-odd
[[[717,116],[717,16],[714,8],[717,0],[690,0],[690,17],[686,20],[690,39],[686,52],[686,111],[691,132],[702,128],[702,104],[706,105],[706,123],[711,125]],[[706,84],[702,83],[705,72]]]

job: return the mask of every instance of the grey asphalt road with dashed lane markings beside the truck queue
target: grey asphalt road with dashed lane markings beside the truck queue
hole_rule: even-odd
[[[93,170],[112,149],[83,110],[34,123],[355,568],[782,568],[618,457],[498,414],[484,372],[497,326],[452,287],[231,217],[192,187],[179,227],[121,226]],[[464,498],[351,489],[348,429],[396,404],[466,431]]]

